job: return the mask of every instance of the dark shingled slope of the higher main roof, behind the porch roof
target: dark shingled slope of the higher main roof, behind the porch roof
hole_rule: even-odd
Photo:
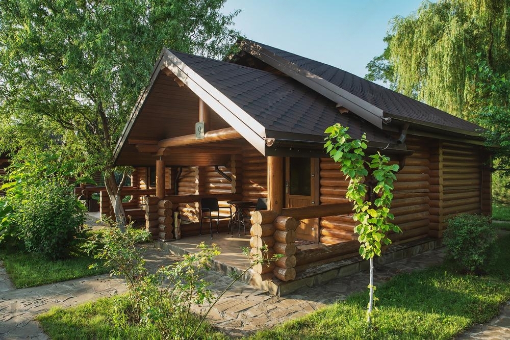
[[[287,51],[247,40],[259,45],[270,53],[284,58],[297,66],[308,70],[324,80],[334,84],[353,95],[362,98],[395,118],[443,126],[446,129],[460,129],[466,132],[479,131],[480,127],[444,111],[433,108],[423,102],[404,96],[378,84],[367,81],[352,73],[341,70],[312,59],[301,57]]]

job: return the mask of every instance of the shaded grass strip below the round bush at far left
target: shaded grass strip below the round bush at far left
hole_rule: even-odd
[[[97,260],[85,254],[72,254],[69,259],[50,260],[37,253],[26,253],[16,247],[0,250],[0,259],[16,288],[67,281],[108,272],[103,267],[88,269]]]

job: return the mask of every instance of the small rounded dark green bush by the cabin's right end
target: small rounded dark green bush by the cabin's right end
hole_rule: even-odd
[[[448,255],[467,272],[483,271],[495,255],[496,232],[490,217],[461,214],[447,220]]]

